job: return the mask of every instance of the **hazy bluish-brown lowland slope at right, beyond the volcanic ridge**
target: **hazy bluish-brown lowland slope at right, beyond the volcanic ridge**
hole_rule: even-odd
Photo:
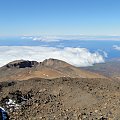
[[[114,58],[105,63],[99,63],[81,69],[103,74],[107,77],[120,79],[120,58]]]

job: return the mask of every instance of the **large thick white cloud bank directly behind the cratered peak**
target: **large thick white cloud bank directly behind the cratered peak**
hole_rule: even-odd
[[[35,60],[55,58],[75,66],[91,66],[104,62],[104,57],[98,52],[91,53],[86,48],[66,47],[64,49],[41,46],[0,46],[0,66],[13,60]]]

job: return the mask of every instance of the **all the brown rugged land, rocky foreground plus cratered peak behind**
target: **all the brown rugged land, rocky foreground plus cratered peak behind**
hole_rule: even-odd
[[[0,79],[10,120],[120,120],[120,81],[110,76],[48,59],[10,62]]]

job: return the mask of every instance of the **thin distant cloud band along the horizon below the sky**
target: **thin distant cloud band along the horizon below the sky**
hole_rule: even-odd
[[[120,36],[95,36],[95,35],[41,35],[41,36],[23,36],[21,39],[32,39],[43,42],[58,42],[60,40],[120,40]]]

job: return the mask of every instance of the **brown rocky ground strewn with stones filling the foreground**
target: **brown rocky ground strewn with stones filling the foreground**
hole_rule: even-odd
[[[11,120],[120,120],[120,82],[111,79],[7,81],[0,96]]]

